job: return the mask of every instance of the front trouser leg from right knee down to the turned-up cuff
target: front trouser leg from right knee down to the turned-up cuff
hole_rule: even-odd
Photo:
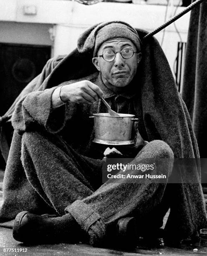
[[[173,159],[173,157],[173,152],[167,143],[152,141],[139,152],[135,162],[139,164],[143,159]],[[172,161],[167,161],[167,164],[157,169],[157,174],[169,177],[172,167]],[[126,183],[125,180],[120,183],[108,181],[92,195],[66,207],[66,212],[70,212],[84,230],[94,229],[97,237],[103,237],[98,233],[100,227],[103,233],[106,226],[116,223],[119,218],[134,216],[141,219],[151,212],[161,202],[165,187],[166,183],[154,183],[153,180],[144,183]]]

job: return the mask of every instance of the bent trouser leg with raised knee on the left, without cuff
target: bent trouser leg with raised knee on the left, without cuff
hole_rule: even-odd
[[[24,133],[21,160],[32,187],[60,215],[101,185],[101,161],[77,154],[52,134]]]

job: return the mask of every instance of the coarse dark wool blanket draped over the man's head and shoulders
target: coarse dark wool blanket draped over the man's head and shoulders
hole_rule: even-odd
[[[142,40],[147,32],[137,31]],[[146,140],[158,139],[165,141],[172,148],[175,158],[199,158],[197,141],[194,136],[189,113],[177,91],[168,61],[158,41],[154,37],[149,38],[144,42],[142,52],[143,57],[136,75],[136,82],[139,98],[141,97],[139,103],[141,102],[142,119],[147,134]],[[91,58],[92,56],[80,54],[75,49],[58,63],[42,84],[41,79],[40,82],[37,82],[37,90],[42,91],[53,88],[65,81],[93,74],[96,70],[93,67]],[[44,94],[46,95],[47,93],[48,91],[45,90]],[[32,99],[32,94],[26,97]],[[44,101],[42,102],[44,105]],[[41,117],[36,113],[35,102],[31,101],[29,103],[28,101],[27,108],[30,112],[25,115],[25,109],[23,111],[21,104],[18,104],[13,116],[15,134],[12,144],[15,145],[13,147],[15,149],[13,152],[10,150],[10,163],[8,163],[7,166],[9,167],[6,168],[5,173],[3,189],[5,202],[0,210],[0,221],[2,222],[15,217],[16,212],[13,209],[13,202],[16,198],[14,198],[14,195],[28,198],[31,196],[32,199],[34,196],[27,195],[26,191],[29,184],[26,183],[26,177],[20,160],[21,135],[25,131],[34,129],[38,122],[38,125],[46,129],[46,123],[40,122]],[[59,128],[56,129],[56,133],[61,132],[64,125]],[[82,134],[82,137],[84,137],[84,134]],[[75,139],[76,136],[74,136]],[[80,144],[79,147],[81,146]],[[189,176],[192,183],[186,183],[186,177]],[[167,184],[165,191],[165,196],[168,198],[167,203],[171,209],[165,230],[169,237],[179,237],[182,239],[192,236],[200,228],[206,227],[207,216],[200,184],[199,164],[197,166],[184,166],[178,169],[177,179],[179,182]],[[25,186],[24,195],[18,195],[18,189],[21,185]],[[40,209],[36,209],[35,205],[32,204],[32,200],[28,200],[28,205],[24,205],[23,210],[31,210],[33,207],[33,212],[39,211],[41,213]]]

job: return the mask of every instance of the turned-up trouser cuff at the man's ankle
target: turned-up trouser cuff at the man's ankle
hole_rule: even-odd
[[[89,242],[93,246],[100,246],[104,242],[106,226],[101,216],[80,200],[76,200],[65,209],[71,213],[76,222],[89,235]]]

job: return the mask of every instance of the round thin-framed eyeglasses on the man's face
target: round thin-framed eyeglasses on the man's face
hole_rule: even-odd
[[[134,53],[137,53],[137,51],[133,51],[133,49],[131,48],[124,48],[121,51],[112,51],[110,50],[106,50],[103,52],[102,55],[98,55],[98,57],[102,57],[105,61],[113,61],[116,57],[116,54],[120,53],[122,58],[124,59],[130,59]]]

